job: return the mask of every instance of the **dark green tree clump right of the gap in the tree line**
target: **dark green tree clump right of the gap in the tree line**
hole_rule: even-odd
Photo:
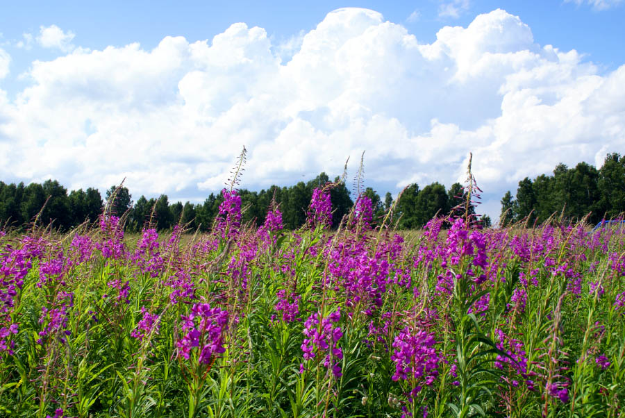
[[[516,199],[508,190],[501,198],[502,225],[526,221],[532,225],[551,215],[578,221],[617,217],[625,212],[625,156],[609,153],[600,169],[579,162],[574,168],[558,164],[553,175],[541,174],[519,181]]]

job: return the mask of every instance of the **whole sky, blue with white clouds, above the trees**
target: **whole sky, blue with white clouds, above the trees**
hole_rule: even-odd
[[[0,181],[199,203],[342,174],[482,212],[625,153],[625,1],[2,1]]]

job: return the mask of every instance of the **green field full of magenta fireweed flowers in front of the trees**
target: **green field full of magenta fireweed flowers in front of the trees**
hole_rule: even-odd
[[[622,417],[625,233],[0,233],[2,417]],[[132,242],[135,241],[135,242]]]

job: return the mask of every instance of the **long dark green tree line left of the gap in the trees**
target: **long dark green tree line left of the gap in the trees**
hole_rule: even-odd
[[[297,229],[306,222],[306,212],[315,187],[323,187],[330,181],[327,174],[321,173],[311,181],[278,187],[272,185],[260,192],[239,189],[242,201],[242,222],[253,222],[260,226],[265,221],[267,208],[275,199],[282,215],[285,228]],[[333,227],[336,228],[344,215],[353,206],[353,193],[339,178],[335,178],[335,187],[330,189],[333,208]],[[394,201],[390,192],[384,199],[372,189],[366,187],[363,194],[372,202],[374,224],[381,221]],[[454,183],[445,190],[440,183],[433,183],[419,190],[412,184],[401,194],[401,199],[394,210],[394,218],[390,222],[399,228],[419,228],[437,213],[447,215],[451,208],[462,200],[462,185]],[[459,200],[460,199],[460,200]],[[0,226],[17,229],[27,228],[33,222],[41,226],[52,224],[60,231],[83,224],[85,221],[95,222],[103,212],[105,204],[110,205],[110,212],[117,216],[126,216],[126,230],[141,231],[146,224],[158,230],[167,230],[180,223],[191,229],[208,231],[219,213],[222,203],[221,193],[211,193],[203,203],[170,203],[167,195],[147,199],[141,196],[133,201],[127,187],[111,186],[106,196],[92,187],[87,190],[72,190],[60,185],[56,180],[48,180],[42,184],[10,183],[0,181]]]

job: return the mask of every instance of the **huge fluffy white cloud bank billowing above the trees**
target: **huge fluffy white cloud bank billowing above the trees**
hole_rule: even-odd
[[[35,61],[0,94],[0,178],[58,178],[137,196],[202,199],[243,145],[243,187],[342,173],[367,150],[380,192],[462,181],[469,151],[486,211],[558,162],[601,164],[625,146],[625,65],[600,75],[576,51],[534,42],[503,10],[419,44],[378,12],[329,13],[281,56],[263,28],[165,37]],[[1,90],[0,90],[1,93]]]

